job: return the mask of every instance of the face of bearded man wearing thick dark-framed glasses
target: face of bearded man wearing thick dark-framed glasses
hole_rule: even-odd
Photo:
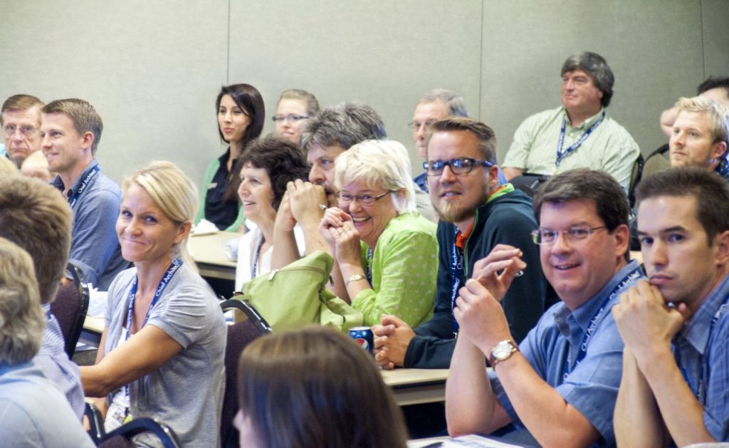
[[[428,144],[428,161],[447,161],[452,158],[483,160],[478,139],[469,131],[438,131]],[[477,206],[485,204],[488,195],[496,188],[496,166],[476,166],[467,174],[456,176],[450,166],[440,176],[428,176],[430,201],[440,219],[454,223],[461,231],[467,231],[475,216]]]

